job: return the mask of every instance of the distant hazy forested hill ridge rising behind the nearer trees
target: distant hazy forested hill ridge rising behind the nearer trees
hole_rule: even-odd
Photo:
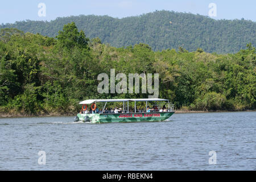
[[[57,18],[51,22],[23,21],[2,24],[0,28],[18,28],[24,32],[55,37],[64,24],[75,22],[89,38],[100,38],[102,43],[123,47],[146,43],[154,51],[178,49],[188,51],[202,48],[206,52],[234,53],[256,46],[256,22],[251,20],[214,20],[207,16],[174,11],[112,18],[110,16],[80,15]]]

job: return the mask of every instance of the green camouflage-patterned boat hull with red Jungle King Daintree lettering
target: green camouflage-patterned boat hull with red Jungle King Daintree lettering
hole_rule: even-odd
[[[111,122],[154,122],[170,118],[174,111],[154,113],[118,113],[118,114],[77,114],[82,122],[111,123]]]

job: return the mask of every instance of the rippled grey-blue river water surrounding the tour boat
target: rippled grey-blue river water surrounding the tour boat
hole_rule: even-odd
[[[0,119],[0,170],[256,170],[256,112],[139,123],[73,118]]]

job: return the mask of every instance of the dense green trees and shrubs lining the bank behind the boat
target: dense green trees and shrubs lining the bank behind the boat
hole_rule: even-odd
[[[0,113],[75,114],[88,98],[147,98],[147,94],[99,94],[97,76],[159,73],[159,97],[190,110],[256,108],[256,52],[247,44],[217,55],[180,47],[152,51],[139,43],[126,48],[86,38],[75,23],[56,39],[16,29],[0,31]]]

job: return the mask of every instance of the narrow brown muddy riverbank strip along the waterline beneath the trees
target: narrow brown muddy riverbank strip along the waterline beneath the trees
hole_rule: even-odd
[[[241,111],[256,111],[256,110],[174,110],[175,114],[185,114],[185,113],[224,113],[224,112],[241,112]],[[22,118],[22,117],[60,117],[60,116],[75,116],[77,113],[51,113],[51,114],[10,114],[10,113],[0,113],[0,118]]]

